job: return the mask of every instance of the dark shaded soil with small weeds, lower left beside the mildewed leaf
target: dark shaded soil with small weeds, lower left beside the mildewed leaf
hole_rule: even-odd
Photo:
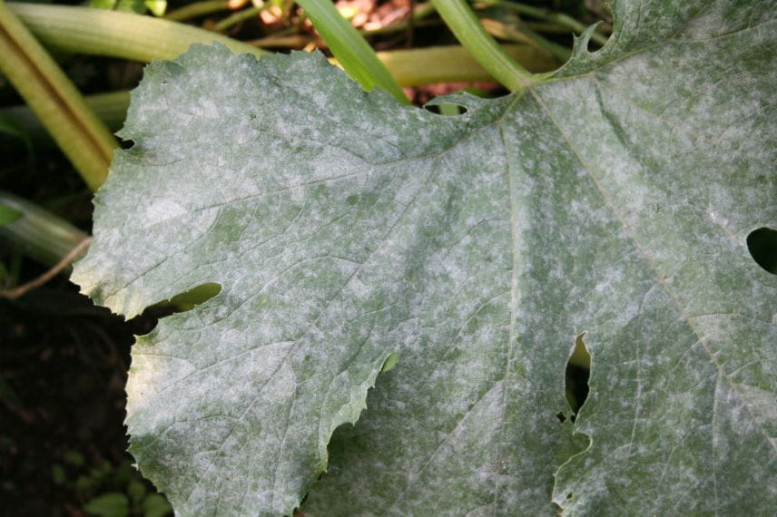
[[[103,496],[143,515],[154,491],[124,452],[124,383],[152,320],[123,322],[56,283],[0,301],[0,514],[87,515]]]

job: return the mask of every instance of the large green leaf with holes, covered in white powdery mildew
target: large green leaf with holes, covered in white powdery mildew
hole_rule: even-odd
[[[222,288],[133,347],[144,475],[178,515],[772,512],[774,16],[620,2],[459,116],[320,54],[152,63],[74,281],[126,317]]]

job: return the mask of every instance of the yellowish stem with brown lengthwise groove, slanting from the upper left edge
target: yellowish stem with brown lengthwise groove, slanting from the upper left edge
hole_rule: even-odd
[[[108,174],[116,141],[54,59],[2,0],[0,70],[87,185],[96,190]]]

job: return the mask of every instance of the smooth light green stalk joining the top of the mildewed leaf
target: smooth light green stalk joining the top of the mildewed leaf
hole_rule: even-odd
[[[516,91],[538,81],[502,50],[464,0],[432,0],[432,3],[458,41],[499,83]]]

